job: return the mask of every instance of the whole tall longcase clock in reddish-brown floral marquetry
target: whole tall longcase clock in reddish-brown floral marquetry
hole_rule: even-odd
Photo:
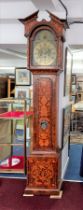
[[[65,24],[48,12],[21,20],[28,37],[27,68],[33,74],[33,137],[27,157],[25,194],[56,194],[60,189],[61,153],[58,144],[59,74],[63,70]]]

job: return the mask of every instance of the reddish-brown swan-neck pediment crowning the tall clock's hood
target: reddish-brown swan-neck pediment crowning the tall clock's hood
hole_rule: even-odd
[[[61,20],[49,11],[47,13],[49,14],[50,20],[47,21],[44,17],[40,21],[38,20],[38,15],[40,11],[35,12],[31,16],[28,16],[24,19],[19,19],[20,22],[22,22],[25,25],[25,36],[30,36],[32,31],[36,29],[39,26],[48,25],[48,27],[53,28],[55,33],[58,37],[62,37],[64,39],[64,33],[66,28],[68,28],[68,24],[66,20]]]

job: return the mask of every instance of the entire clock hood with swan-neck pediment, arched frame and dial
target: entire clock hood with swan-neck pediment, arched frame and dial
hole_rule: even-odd
[[[39,12],[36,12],[20,20],[25,25],[25,36],[28,40],[27,67],[30,70],[36,68],[62,70],[66,21],[60,20],[50,12],[49,21],[46,19],[38,21],[38,14]],[[42,33],[49,34],[51,40]],[[39,36],[42,36],[42,40],[39,40]]]

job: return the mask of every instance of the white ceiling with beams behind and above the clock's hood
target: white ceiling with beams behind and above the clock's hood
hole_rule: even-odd
[[[26,59],[24,26],[21,26],[18,19],[25,18],[37,10],[49,10],[63,19],[67,16],[69,23],[83,21],[83,0],[0,0],[0,60]]]

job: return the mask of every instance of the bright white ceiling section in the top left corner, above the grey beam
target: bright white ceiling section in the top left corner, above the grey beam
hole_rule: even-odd
[[[0,19],[19,19],[31,15],[37,10],[30,0],[0,1]]]

